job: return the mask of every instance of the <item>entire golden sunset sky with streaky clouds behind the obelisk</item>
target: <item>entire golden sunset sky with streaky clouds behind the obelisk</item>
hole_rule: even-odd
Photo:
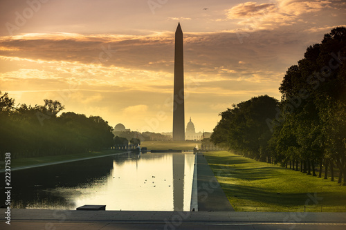
[[[184,38],[185,124],[259,95],[346,25],[346,1],[0,0],[0,90],[58,100],[132,131],[172,131],[174,32]]]

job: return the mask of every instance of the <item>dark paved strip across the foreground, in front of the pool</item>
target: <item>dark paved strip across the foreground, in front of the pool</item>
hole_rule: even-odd
[[[346,229],[346,213],[12,209],[11,218],[0,229]]]

